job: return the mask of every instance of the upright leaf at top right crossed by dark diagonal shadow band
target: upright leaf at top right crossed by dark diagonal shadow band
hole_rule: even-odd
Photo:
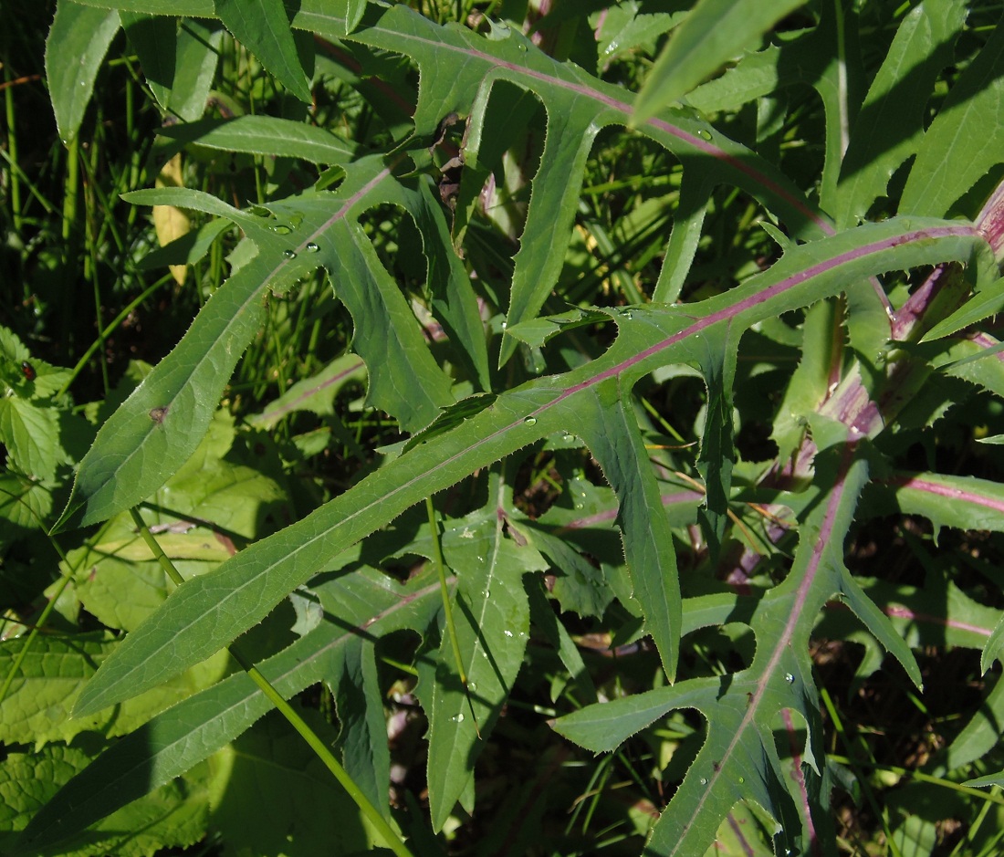
[[[917,152],[925,107],[952,62],[966,8],[964,0],[926,0],[903,19],[851,129],[837,189],[838,227],[863,219],[893,173]]]

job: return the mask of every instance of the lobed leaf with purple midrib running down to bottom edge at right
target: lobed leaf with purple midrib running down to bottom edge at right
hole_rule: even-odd
[[[590,749],[612,749],[634,732],[679,707],[699,709],[707,739],[670,805],[653,828],[648,848],[665,855],[697,854],[714,841],[719,824],[736,801],[759,805],[775,819],[775,850],[807,848],[810,832],[798,807],[808,801],[813,815],[819,797],[784,777],[773,731],[784,708],[812,712],[818,701],[808,642],[819,609],[845,575],[842,538],[857,495],[867,478],[863,461],[834,443],[843,426],[814,426],[825,452],[817,456],[817,481],[831,490],[801,522],[799,545],[785,580],[765,593],[749,625],[757,637],[748,669],[725,677],[696,678],[638,697],[591,705],[560,719],[555,728]],[[845,431],[845,430],[844,430]],[[833,434],[835,437],[827,438]],[[637,701],[636,701],[637,700]],[[609,716],[604,713],[609,709]],[[604,724],[603,721],[606,721]],[[809,766],[821,756],[821,723],[812,717],[803,757]],[[680,819],[687,819],[683,826]]]

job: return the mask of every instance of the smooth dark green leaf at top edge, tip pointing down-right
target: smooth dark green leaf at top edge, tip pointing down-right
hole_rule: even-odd
[[[301,101],[311,102],[310,83],[303,70],[282,0],[215,0],[216,14],[283,86]]]

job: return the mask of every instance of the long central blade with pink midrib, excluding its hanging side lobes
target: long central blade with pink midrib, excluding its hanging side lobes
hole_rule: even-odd
[[[619,375],[637,379],[667,363],[702,358],[705,346],[696,333],[705,336],[716,325],[748,327],[838,292],[848,278],[887,266],[969,258],[981,246],[970,226],[891,220],[793,248],[768,272],[700,304],[619,314],[620,335],[598,360],[499,395],[487,409],[389,463],[303,521],[179,587],[88,684],[78,711],[99,710],[208,657],[260,621],[338,550],[426,497],[542,437],[569,427],[582,431],[580,407],[595,407],[596,387],[604,381]],[[619,381],[621,388],[625,382]],[[653,508],[655,503],[646,503],[647,512]],[[625,538],[643,540],[638,549],[628,545],[629,553],[641,562],[659,561],[661,554],[645,547],[651,536],[639,533],[647,523],[624,521]],[[651,567],[633,569],[636,575],[659,573]]]

